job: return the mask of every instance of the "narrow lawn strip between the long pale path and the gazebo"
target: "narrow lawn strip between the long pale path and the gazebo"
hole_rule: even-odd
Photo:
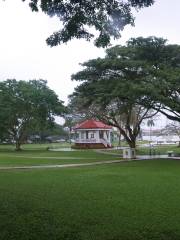
[[[0,151],[0,167],[90,163],[118,159],[121,159],[118,154],[105,155],[93,150],[52,152],[37,148],[36,150],[26,149],[19,152],[13,150],[9,151],[8,149],[1,149]]]

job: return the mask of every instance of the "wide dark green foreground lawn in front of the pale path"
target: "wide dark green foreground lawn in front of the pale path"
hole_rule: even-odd
[[[1,240],[179,240],[180,161],[0,171]]]

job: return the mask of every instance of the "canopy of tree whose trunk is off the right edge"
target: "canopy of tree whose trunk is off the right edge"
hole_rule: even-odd
[[[149,37],[132,39],[128,47],[134,49],[135,60],[145,63],[144,94],[153,102],[153,109],[180,122],[180,46]],[[144,105],[149,106],[149,102]]]

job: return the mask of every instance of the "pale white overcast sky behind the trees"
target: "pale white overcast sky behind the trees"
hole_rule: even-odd
[[[124,44],[131,37],[157,36],[180,44],[180,0],[155,0],[152,7],[135,13],[135,27],[126,27]],[[79,63],[104,55],[92,43],[73,40],[50,48],[45,39],[59,29],[59,22],[43,13],[33,13],[21,0],[0,0],[0,80],[46,79],[48,85],[67,102],[77,84],[71,74]]]

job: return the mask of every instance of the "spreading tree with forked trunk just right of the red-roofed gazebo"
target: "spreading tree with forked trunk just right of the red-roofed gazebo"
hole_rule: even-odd
[[[135,148],[142,121],[156,114],[151,99],[144,94],[146,62],[135,59],[134,48],[129,46],[116,46],[106,52],[105,58],[82,64],[84,70],[72,76],[82,84],[71,96],[71,104],[117,127]],[[146,102],[148,107],[143,106]]]

